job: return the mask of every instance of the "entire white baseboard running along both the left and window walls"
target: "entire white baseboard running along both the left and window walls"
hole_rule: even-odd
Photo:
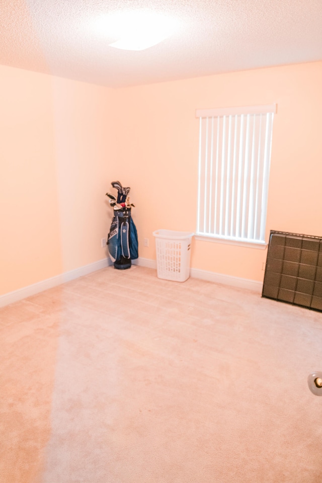
[[[152,268],[156,270],[156,260],[151,260],[149,258],[139,257],[137,260],[132,261],[133,265],[138,265],[140,267]],[[56,287],[70,280],[74,280],[78,277],[83,277],[102,268],[106,268],[112,265],[109,258],[104,258],[98,262],[90,263],[84,267],[76,268],[75,270],[70,270],[69,272],[62,273],[56,277],[48,278],[33,285],[28,285],[14,292],[9,292],[4,295],[0,295],[0,307],[9,305],[13,302],[18,302],[26,297],[35,295],[36,293],[43,292],[48,288]],[[190,269],[190,276],[192,278],[199,278],[201,280],[207,280],[208,282],[221,283],[223,285],[230,285],[232,287],[247,288],[248,290],[253,290],[258,293],[262,293],[263,284],[257,280],[249,280],[246,278],[232,277],[231,275],[223,275],[221,273],[208,272],[207,270],[199,270],[197,268]]]

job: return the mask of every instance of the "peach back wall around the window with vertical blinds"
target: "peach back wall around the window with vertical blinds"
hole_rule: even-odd
[[[321,85],[314,62],[119,89],[119,178],[137,206],[140,256],[155,259],[155,229],[196,229],[197,108],[277,103],[266,239],[270,229],[321,235]],[[266,254],[194,240],[191,265],[262,281]]]

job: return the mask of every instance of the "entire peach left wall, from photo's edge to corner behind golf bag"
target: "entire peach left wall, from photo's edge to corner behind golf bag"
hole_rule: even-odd
[[[0,294],[106,256],[112,94],[0,66]]]

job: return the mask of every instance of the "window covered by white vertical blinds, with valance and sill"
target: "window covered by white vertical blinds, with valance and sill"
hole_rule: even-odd
[[[276,105],[197,110],[200,122],[197,232],[266,246]]]

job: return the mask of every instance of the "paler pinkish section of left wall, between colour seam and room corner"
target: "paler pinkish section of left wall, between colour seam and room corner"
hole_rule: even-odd
[[[113,91],[54,77],[55,159],[63,272],[102,260],[114,175]]]

